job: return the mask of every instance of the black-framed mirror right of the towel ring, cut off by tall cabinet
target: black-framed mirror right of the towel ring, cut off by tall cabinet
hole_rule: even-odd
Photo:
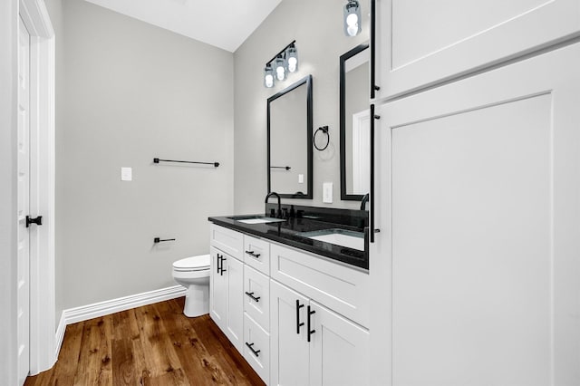
[[[361,200],[370,190],[369,44],[340,57],[341,199]]]

